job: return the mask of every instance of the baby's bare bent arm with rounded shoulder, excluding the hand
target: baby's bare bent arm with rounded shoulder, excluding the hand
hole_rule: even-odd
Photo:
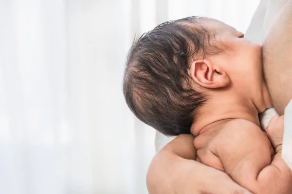
[[[273,147],[255,124],[240,120],[224,128],[229,138],[217,154],[227,174],[254,194],[292,193],[291,170],[280,153],[271,161]]]

